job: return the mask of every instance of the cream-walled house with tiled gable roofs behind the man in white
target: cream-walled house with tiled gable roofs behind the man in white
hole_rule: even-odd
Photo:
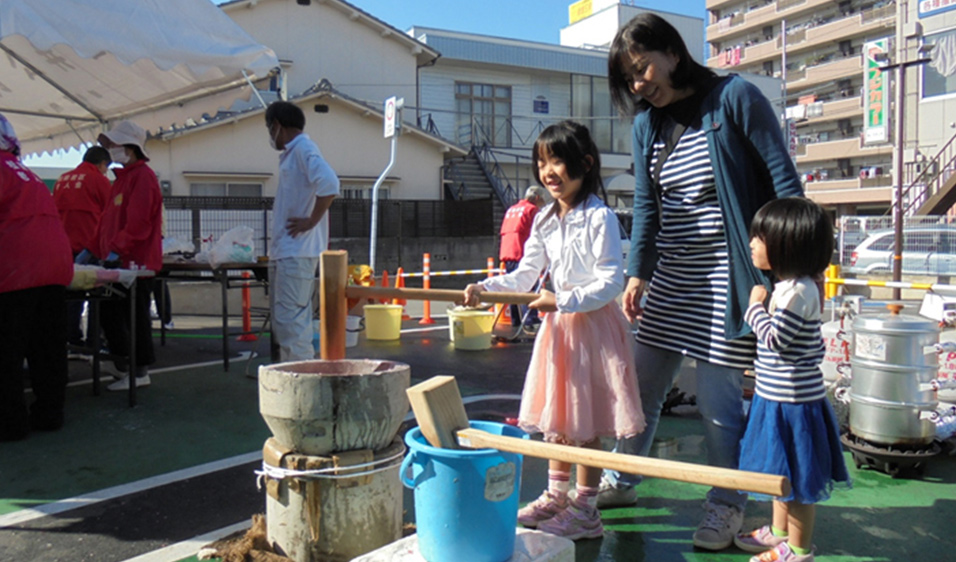
[[[438,53],[337,0],[241,0],[221,7],[276,51],[283,72],[271,86],[302,107],[305,131],[339,174],[343,197],[367,197],[389,160],[383,102],[397,96],[413,105],[418,69]],[[277,154],[269,147],[263,113],[253,98],[239,111],[163,131],[150,141],[151,165],[166,194],[275,195]],[[445,158],[463,154],[448,141],[406,127],[382,196],[440,199]]]

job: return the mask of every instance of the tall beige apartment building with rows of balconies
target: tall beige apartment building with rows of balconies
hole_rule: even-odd
[[[879,212],[893,194],[893,144],[864,142],[862,51],[889,41],[884,0],[707,0],[708,66],[784,79],[808,196],[840,214]]]

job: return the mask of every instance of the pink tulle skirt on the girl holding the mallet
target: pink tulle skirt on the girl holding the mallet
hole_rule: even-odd
[[[615,303],[592,312],[544,316],[518,422],[548,441],[569,444],[644,430],[634,336]]]

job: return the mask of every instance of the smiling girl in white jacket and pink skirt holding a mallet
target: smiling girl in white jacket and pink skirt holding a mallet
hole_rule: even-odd
[[[533,148],[535,180],[554,202],[535,217],[515,271],[465,288],[474,306],[483,291],[528,291],[550,268],[554,292],[529,306],[547,312],[535,339],[521,397],[519,425],[546,441],[598,449],[600,437],[644,429],[634,338],[614,299],[624,287],[618,219],[597,197],[601,160],[587,127],[562,121]],[[549,461],[548,489],[518,512],[518,521],[575,540],[604,534],[597,493],[601,469]]]

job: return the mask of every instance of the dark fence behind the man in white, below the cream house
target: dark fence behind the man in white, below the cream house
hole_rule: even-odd
[[[240,225],[254,231],[255,253],[268,252],[272,232],[272,198],[167,197],[166,238],[203,243],[218,240]],[[329,235],[368,238],[372,203],[365,199],[336,199],[329,209]],[[496,233],[493,201],[385,200],[378,207],[379,238],[464,238]]]

